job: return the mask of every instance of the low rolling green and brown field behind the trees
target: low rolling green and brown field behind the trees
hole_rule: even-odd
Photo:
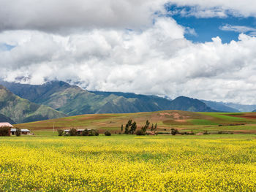
[[[226,131],[233,134],[256,134],[256,112],[247,113],[221,113],[221,112],[185,112],[185,111],[159,111],[139,112],[127,114],[94,114],[78,115],[53,120],[43,120],[32,123],[23,123],[16,126],[29,128],[36,135],[53,135],[53,126],[57,128],[93,128],[104,133],[105,130],[113,134],[120,132],[121,124],[132,119],[137,122],[138,129],[149,120],[157,123],[159,133],[169,133],[170,128],[178,131],[193,131],[195,133],[216,134]]]

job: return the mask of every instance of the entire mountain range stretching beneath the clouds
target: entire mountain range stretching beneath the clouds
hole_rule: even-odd
[[[16,123],[94,113],[158,110],[240,112],[222,102],[200,101],[185,96],[171,100],[135,93],[87,91],[62,81],[46,82],[43,85],[4,81],[0,81],[0,84],[5,86],[0,89],[3,92],[0,94],[0,113]]]

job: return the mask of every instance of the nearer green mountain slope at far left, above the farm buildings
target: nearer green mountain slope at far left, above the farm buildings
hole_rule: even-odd
[[[22,99],[0,85],[0,113],[16,123],[65,117],[61,112]]]

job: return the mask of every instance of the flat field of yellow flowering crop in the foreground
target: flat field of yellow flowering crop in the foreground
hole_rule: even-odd
[[[256,191],[256,139],[1,137],[0,191]]]

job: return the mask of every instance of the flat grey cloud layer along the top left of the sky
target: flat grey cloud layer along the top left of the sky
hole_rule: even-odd
[[[0,0],[0,31],[142,28],[167,0]]]

